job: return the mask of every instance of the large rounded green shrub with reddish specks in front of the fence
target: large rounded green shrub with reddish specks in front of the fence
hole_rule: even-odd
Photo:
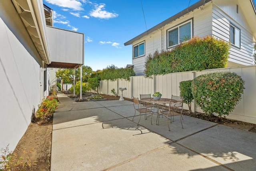
[[[244,92],[244,80],[236,73],[215,72],[196,77],[191,84],[192,94],[207,114],[228,115]]]

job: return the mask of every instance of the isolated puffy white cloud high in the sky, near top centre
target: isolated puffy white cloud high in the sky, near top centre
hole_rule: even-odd
[[[107,12],[104,10],[105,4],[96,4],[94,5],[95,10],[92,10],[90,12],[90,16],[95,18],[101,18],[101,19],[109,19],[109,18],[115,18],[118,16],[116,13]]]

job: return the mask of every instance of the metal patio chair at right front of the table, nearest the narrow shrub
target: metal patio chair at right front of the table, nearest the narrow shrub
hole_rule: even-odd
[[[168,128],[169,128],[169,131],[170,131],[170,126],[169,126],[169,120],[170,122],[172,123],[172,121],[174,121],[174,113],[175,115],[180,115],[180,123],[181,123],[181,126],[183,128],[183,125],[182,125],[182,120],[183,120],[183,117],[182,117],[182,111],[183,111],[183,98],[180,97],[180,96],[176,96],[176,95],[172,95],[172,98],[170,100],[169,103],[166,103],[163,107],[162,107],[163,110],[163,113],[167,113],[166,117],[167,117],[167,125],[168,125]],[[176,111],[180,111],[180,112],[176,112]],[[170,119],[169,119],[170,117]]]

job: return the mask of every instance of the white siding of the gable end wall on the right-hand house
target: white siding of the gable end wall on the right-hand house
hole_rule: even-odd
[[[239,65],[252,65],[252,38],[249,25],[244,20],[244,15],[240,10],[236,13],[235,1],[214,1],[212,6],[212,33],[214,37],[230,41],[230,23],[240,29],[240,48],[231,46],[230,62]]]

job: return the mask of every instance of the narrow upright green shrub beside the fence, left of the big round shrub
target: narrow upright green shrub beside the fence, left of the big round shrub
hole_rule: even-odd
[[[191,113],[191,103],[194,99],[191,90],[192,80],[180,82],[180,96],[183,98],[183,102],[188,104],[188,112]]]

